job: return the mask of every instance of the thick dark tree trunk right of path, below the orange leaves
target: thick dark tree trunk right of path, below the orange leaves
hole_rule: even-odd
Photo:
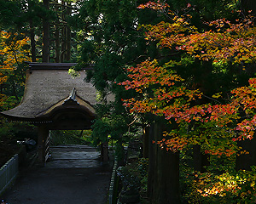
[[[149,139],[162,139],[163,125],[155,122],[149,130]],[[149,145],[148,197],[153,204],[179,204],[179,155]]]

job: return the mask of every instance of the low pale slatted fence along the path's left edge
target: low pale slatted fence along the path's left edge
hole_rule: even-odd
[[[12,183],[19,172],[19,156],[13,156],[3,167],[0,168],[0,195]]]

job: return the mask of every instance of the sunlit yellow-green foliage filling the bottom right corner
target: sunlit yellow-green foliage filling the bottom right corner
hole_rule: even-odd
[[[180,161],[182,203],[255,203],[255,167],[236,171],[236,156],[210,156],[206,173],[194,171],[191,151],[182,151]]]

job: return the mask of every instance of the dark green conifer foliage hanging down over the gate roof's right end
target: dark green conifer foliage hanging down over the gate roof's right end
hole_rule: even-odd
[[[136,64],[145,53],[152,52],[146,49],[143,31],[137,31],[137,26],[139,21],[153,20],[156,15],[147,14],[146,18],[145,12],[137,9],[139,3],[143,1],[84,1],[80,4],[79,14],[72,19],[81,42],[77,68],[94,65],[93,70],[88,71],[87,81],[94,84],[100,96],[93,125],[94,144],[113,140],[119,159],[124,157],[123,145],[129,141],[125,133],[134,116],[121,102],[133,92],[125,92],[117,82],[126,78],[125,65]],[[109,94],[114,95],[114,101],[108,101]]]

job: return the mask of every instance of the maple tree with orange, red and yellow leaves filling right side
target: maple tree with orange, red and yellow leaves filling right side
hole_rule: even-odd
[[[189,3],[184,11],[191,7]],[[151,8],[168,15],[168,22],[143,25],[145,38],[148,42],[156,42],[160,50],[169,50],[170,54],[179,54],[180,57],[167,58],[166,61],[148,59],[127,68],[128,79],[119,85],[125,86],[126,90],[135,90],[137,96],[124,99],[125,107],[131,113],[150,113],[166,119],[172,128],[163,132],[162,139],[153,141],[160,148],[176,152],[200,145],[203,154],[209,156],[210,163],[215,162],[215,167],[212,163],[208,167],[209,173],[229,173],[234,170],[231,160],[250,154],[250,150],[242,148],[240,141],[253,140],[256,124],[256,78],[250,71],[255,63],[256,30],[251,11],[247,15],[238,11],[236,20],[232,22],[226,19],[203,22],[204,29],[201,29],[191,23],[192,15],[174,13],[166,3],[149,2],[139,8]],[[225,93],[209,91],[211,88],[207,90],[193,75],[183,77],[179,74],[186,65],[196,62],[206,65],[205,72],[207,66],[218,67],[212,69],[213,74],[220,69],[224,72],[224,67],[229,66],[233,74],[236,72],[236,77],[228,85],[230,89]],[[247,74],[247,84],[237,81],[238,72],[245,73],[244,76]],[[224,85],[219,86],[221,90]],[[231,179],[227,177],[223,174],[219,178],[222,181]],[[227,187],[222,181],[221,184],[213,182],[214,188],[208,191],[198,189],[196,192],[202,196],[224,196],[226,192],[236,194],[236,185]],[[254,182],[253,179],[250,181]],[[202,183],[206,184],[205,180]]]

